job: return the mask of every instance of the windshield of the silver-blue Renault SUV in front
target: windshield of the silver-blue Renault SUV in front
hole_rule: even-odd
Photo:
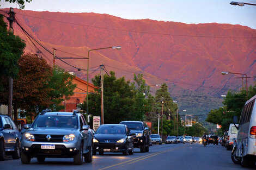
[[[78,128],[76,116],[42,115],[36,118],[32,128]]]

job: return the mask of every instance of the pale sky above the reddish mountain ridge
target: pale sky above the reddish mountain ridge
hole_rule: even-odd
[[[236,1],[236,0],[233,0]],[[25,10],[59,12],[95,12],[126,19],[149,18],[183,23],[230,23],[256,29],[256,6],[230,5],[231,0],[32,0]],[[256,0],[238,2],[256,4]],[[19,8],[0,0],[0,8]]]

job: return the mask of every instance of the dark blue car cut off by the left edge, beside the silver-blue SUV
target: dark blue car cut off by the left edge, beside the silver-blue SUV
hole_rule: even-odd
[[[20,159],[20,131],[13,120],[7,115],[0,115],[0,161],[5,155]]]

